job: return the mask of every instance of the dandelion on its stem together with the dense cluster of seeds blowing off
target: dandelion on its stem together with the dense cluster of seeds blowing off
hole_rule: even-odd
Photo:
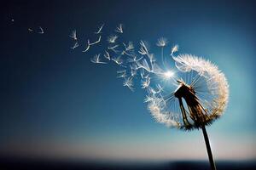
[[[123,26],[119,25],[115,31],[122,33]],[[211,167],[215,169],[206,127],[222,116],[228,103],[229,85],[224,74],[206,59],[190,54],[174,56],[177,45],[171,49],[177,71],[166,66],[164,48],[168,41],[165,37],[156,42],[161,49],[162,65],[157,63],[156,55],[149,52],[146,42],[140,41],[137,48],[132,42],[116,43],[117,39],[116,35],[108,37],[104,58],[123,67],[124,70],[117,71],[117,77],[124,78],[123,86],[133,91],[133,80],[141,80],[141,88],[147,92],[144,102],[156,122],[187,131],[201,129]],[[89,47],[100,41],[101,37],[96,42],[88,42]],[[116,56],[110,58],[110,52]],[[91,61],[106,64],[100,54]]]

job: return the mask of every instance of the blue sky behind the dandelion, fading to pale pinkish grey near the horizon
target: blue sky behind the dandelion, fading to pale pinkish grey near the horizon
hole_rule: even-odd
[[[12,1],[1,5],[0,149],[21,156],[206,159],[200,131],[154,122],[144,92],[131,93],[114,65],[94,65],[86,43],[105,23],[127,41],[159,37],[210,59],[230,83],[224,116],[208,128],[217,159],[255,159],[256,12],[251,1]],[[14,19],[14,22],[11,20]],[[28,28],[44,28],[43,35]],[[170,47],[169,47],[170,48]],[[167,52],[166,52],[167,53]],[[159,53],[160,54],[160,53]],[[189,145],[195,147],[191,148]],[[234,154],[235,153],[235,154]]]

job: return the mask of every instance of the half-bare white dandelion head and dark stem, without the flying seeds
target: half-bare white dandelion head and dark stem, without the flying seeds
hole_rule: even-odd
[[[210,61],[193,55],[173,57],[177,69],[187,75],[177,80],[177,89],[164,97],[155,95],[148,110],[157,122],[184,130],[202,129],[212,169],[215,169],[206,126],[224,113],[229,85],[224,74]],[[151,89],[151,94],[154,91]],[[177,107],[178,105],[178,107]],[[173,116],[177,115],[177,116]]]

